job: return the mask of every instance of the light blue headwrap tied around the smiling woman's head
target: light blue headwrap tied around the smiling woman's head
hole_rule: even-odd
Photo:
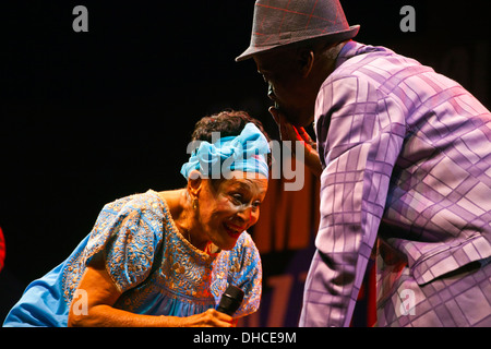
[[[215,141],[214,134],[219,133],[212,133],[212,142]],[[196,142],[199,147],[181,168],[185,179],[189,179],[192,170],[199,170],[208,178],[220,178],[221,173],[229,179],[227,173],[233,170],[268,176],[265,154],[271,152],[270,145],[264,134],[251,122],[246,124],[238,136],[221,137],[213,144]]]

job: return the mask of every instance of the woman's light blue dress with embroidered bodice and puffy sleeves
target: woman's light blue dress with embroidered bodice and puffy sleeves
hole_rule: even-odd
[[[92,232],[62,264],[28,285],[3,326],[67,326],[82,274],[97,253],[104,253],[106,269],[123,292],[118,309],[199,314],[215,308],[229,284],[246,292],[235,317],[260,304],[261,258],[251,237],[243,232],[230,251],[197,250],[178,231],[167,203],[149,190],[105,205]]]

